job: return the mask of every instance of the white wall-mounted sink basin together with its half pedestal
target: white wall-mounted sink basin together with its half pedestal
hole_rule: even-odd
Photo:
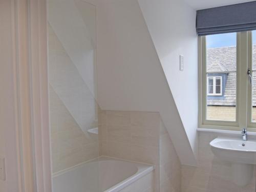
[[[221,160],[232,165],[232,179],[240,186],[248,184],[256,164],[256,140],[216,138],[210,142],[211,151]]]

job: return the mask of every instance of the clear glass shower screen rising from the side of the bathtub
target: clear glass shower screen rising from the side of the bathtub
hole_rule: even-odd
[[[94,5],[48,1],[48,58],[53,191],[58,192],[58,175],[99,157]]]

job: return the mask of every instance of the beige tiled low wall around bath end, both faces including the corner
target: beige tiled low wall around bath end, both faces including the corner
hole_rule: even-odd
[[[99,110],[99,139],[100,155],[154,164],[155,191],[179,191],[180,162],[159,113]]]

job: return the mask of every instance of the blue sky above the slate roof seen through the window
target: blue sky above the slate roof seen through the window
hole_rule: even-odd
[[[237,44],[236,33],[224,33],[206,36],[207,48],[232,46]],[[256,44],[256,31],[252,31],[252,44]]]

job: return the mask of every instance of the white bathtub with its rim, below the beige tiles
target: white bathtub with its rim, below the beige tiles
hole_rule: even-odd
[[[55,174],[53,192],[117,192],[153,170],[153,165],[100,157]]]

